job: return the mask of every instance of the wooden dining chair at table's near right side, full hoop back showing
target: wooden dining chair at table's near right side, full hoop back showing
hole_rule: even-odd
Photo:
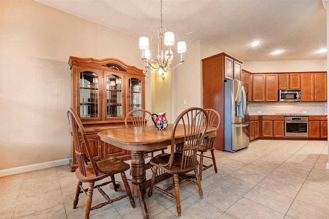
[[[199,162],[196,159],[196,154],[199,145],[202,143],[205,131],[208,125],[208,114],[202,108],[192,107],[184,110],[176,118],[173,125],[171,135],[171,153],[159,154],[151,159],[150,164],[154,166],[151,185],[149,190],[149,197],[152,195],[152,189],[156,189],[170,197],[176,198],[177,213],[181,215],[180,194],[179,189],[190,183],[197,184],[200,198],[203,198],[203,191],[197,168]],[[176,133],[177,126],[182,126],[182,131]],[[176,140],[177,134],[183,134],[183,140]],[[180,144],[181,143],[181,144]],[[180,144],[179,151],[176,149],[177,144]],[[157,169],[161,168],[163,171],[174,176],[174,185],[166,189],[161,189],[154,185]],[[186,173],[194,170],[194,178],[186,177]],[[180,178],[180,181],[179,181]],[[196,180],[196,183],[195,183]],[[175,188],[175,194],[170,193],[171,189]]]

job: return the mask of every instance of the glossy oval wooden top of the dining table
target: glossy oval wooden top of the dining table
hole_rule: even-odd
[[[167,129],[157,130],[153,125],[108,129],[98,132],[101,140],[119,148],[130,151],[146,151],[170,145],[173,124]],[[205,136],[213,135],[216,127],[208,127]],[[175,138],[177,143],[184,137],[182,125],[178,125]],[[182,140],[182,139],[181,139]]]

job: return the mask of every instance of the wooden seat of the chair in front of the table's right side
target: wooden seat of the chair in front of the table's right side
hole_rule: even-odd
[[[168,172],[170,174],[187,173],[187,172],[190,172],[190,171],[196,169],[199,165],[199,162],[197,160],[195,160],[194,165],[192,165],[189,168],[184,168],[183,170],[181,170],[181,168],[180,168],[181,158],[182,158],[182,153],[177,153],[177,152],[174,153],[174,161],[173,161],[173,165],[172,165],[171,169],[169,169],[169,166],[162,166],[169,162],[170,154],[168,154],[168,153],[163,153],[163,154],[159,154],[159,155],[155,156],[154,158],[152,158],[150,160],[150,164],[153,166],[163,168],[166,170],[166,172]]]

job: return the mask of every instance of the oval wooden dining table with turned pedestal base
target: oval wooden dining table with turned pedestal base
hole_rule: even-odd
[[[145,180],[144,152],[152,149],[165,148],[171,145],[173,124],[168,124],[164,130],[158,130],[154,125],[141,127],[125,127],[107,129],[98,132],[101,141],[114,145],[124,150],[130,150],[132,155],[132,191],[137,191],[134,196],[139,197],[143,217],[149,218],[148,209],[144,200],[144,191],[147,187]],[[216,134],[216,127],[207,127],[205,137]],[[183,126],[178,124],[175,132],[176,151],[184,142]]]

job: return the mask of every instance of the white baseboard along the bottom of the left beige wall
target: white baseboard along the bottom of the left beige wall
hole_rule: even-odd
[[[33,170],[41,170],[49,167],[57,167],[57,166],[62,166],[69,164],[69,159],[62,159],[62,160],[57,160],[57,161],[49,161],[45,163],[40,163],[40,164],[32,164],[32,165],[27,165],[27,166],[22,166],[22,167],[14,167],[14,168],[9,168],[9,169],[4,169],[0,170],[0,177],[1,176],[6,176],[6,175],[12,175],[12,174],[17,174],[17,173],[24,173],[24,172],[29,172]]]

